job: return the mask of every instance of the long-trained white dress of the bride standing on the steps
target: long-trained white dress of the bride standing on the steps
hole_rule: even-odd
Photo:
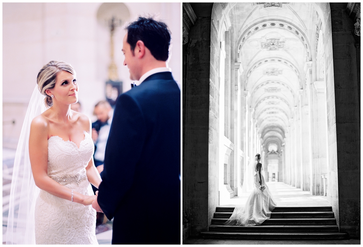
[[[232,226],[259,226],[266,219],[271,217],[271,211],[276,207],[269,188],[266,185],[265,178],[261,173],[262,185],[266,186],[264,191],[260,190],[260,176],[258,175],[257,166],[253,178],[253,190],[249,195],[245,206],[236,206],[233,214],[224,224]]]

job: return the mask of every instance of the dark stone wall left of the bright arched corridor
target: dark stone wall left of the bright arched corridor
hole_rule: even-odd
[[[197,21],[183,45],[183,215],[190,234],[208,231],[210,6],[191,4]],[[210,8],[206,11],[205,8]],[[209,16],[208,16],[209,15]]]

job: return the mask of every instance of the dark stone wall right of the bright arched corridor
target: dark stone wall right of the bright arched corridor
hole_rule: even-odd
[[[347,3],[330,3],[337,128],[339,231],[360,237],[360,50]]]

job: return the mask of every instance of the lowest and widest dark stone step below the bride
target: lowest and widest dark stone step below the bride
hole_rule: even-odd
[[[345,239],[348,234],[340,232],[201,232],[203,238],[217,239]]]

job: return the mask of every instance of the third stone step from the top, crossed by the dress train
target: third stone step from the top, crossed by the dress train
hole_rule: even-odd
[[[213,218],[212,224],[222,225],[229,218]],[[276,218],[266,219],[262,225],[336,225],[335,218]]]

